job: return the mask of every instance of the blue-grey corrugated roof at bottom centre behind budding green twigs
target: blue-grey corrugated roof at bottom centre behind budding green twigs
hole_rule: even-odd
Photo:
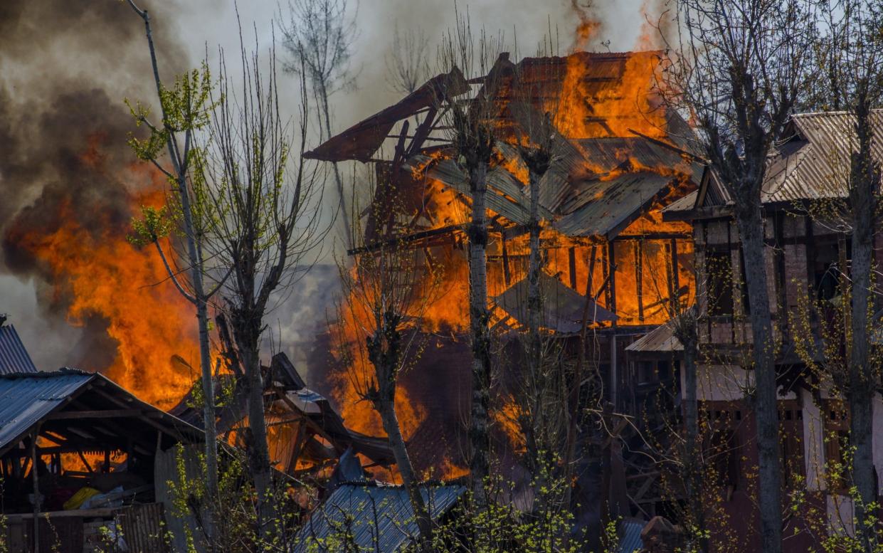
[[[458,484],[420,490],[432,519],[449,511],[465,492]],[[336,553],[346,532],[359,550],[396,553],[419,535],[408,494],[401,486],[346,482],[335,489],[298,533],[294,553]]]

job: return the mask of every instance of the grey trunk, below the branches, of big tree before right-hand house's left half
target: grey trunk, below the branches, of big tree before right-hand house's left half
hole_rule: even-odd
[[[737,203],[736,224],[739,238],[742,240],[745,280],[751,309],[754,411],[758,426],[758,503],[761,545],[767,553],[779,553],[782,513],[775,345],[769,292],[766,287],[764,222],[758,204],[759,197],[758,201],[745,199],[742,205]]]

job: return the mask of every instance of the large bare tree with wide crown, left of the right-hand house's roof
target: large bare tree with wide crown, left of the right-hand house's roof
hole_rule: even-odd
[[[761,190],[767,157],[811,74],[811,5],[679,0],[672,98],[690,110],[710,167],[734,200],[751,310],[762,546],[781,551],[781,471],[773,326]]]

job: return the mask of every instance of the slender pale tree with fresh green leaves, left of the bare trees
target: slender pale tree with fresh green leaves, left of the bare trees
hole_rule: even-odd
[[[153,66],[153,79],[156,95],[160,105],[160,121],[150,117],[150,110],[138,104],[132,107],[132,116],[137,125],[145,125],[149,129],[146,140],[132,138],[130,144],[140,159],[153,163],[155,167],[174,183],[173,196],[170,199],[173,208],[155,210],[144,208],[144,219],[134,221],[133,226],[137,240],[153,243],[162,258],[162,263],[169,273],[170,280],[188,301],[196,307],[196,320],[200,333],[200,373],[202,379],[203,423],[206,431],[206,484],[208,503],[214,504],[217,496],[217,443],[215,431],[215,386],[212,381],[211,351],[208,337],[208,301],[220,288],[209,289],[205,279],[207,268],[204,262],[203,247],[207,239],[208,206],[200,201],[194,191],[191,172],[193,164],[200,158],[200,152],[194,148],[195,134],[208,125],[212,102],[209,98],[211,78],[208,68],[194,71],[180,77],[174,87],[166,87],[159,72],[156,60],[156,49],[147,10],[140,9],[132,0],[128,0],[132,11],[144,20],[147,33],[147,48]],[[163,164],[162,149],[169,155],[170,166]],[[184,242],[188,268],[185,271],[172,269],[171,263],[162,251],[160,239],[169,234],[174,226],[179,227]],[[183,272],[189,273],[189,283],[181,278]],[[210,526],[210,525],[209,525]],[[211,528],[208,528],[211,534]]]

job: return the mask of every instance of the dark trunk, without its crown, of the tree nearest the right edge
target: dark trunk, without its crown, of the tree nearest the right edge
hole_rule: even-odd
[[[869,106],[862,95],[857,102],[856,131],[859,150],[851,159],[849,203],[852,210],[852,286],[851,344],[849,348],[849,442],[855,448],[852,458],[852,481],[858,491],[855,518],[858,538],[865,551],[874,550],[874,524],[871,509],[877,501],[873,466],[874,380],[870,367],[868,335],[872,331],[870,296],[872,291],[873,217],[876,206],[874,167],[871,155],[872,126]]]

